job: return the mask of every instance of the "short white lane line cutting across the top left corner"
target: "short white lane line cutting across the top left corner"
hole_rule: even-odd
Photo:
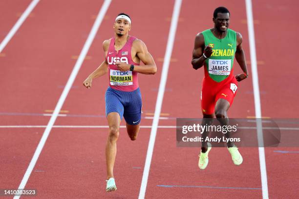
[[[40,0],[33,0],[27,7],[27,9],[23,12],[20,19],[16,22],[14,27],[9,31],[9,33],[6,35],[4,40],[0,43],[0,53],[5,48],[6,44],[11,40],[11,38],[15,35],[15,33],[18,31],[24,20],[28,17],[28,15],[31,13],[31,11],[34,9],[36,4],[38,4]]]

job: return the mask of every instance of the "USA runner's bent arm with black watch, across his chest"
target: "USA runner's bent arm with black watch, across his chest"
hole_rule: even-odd
[[[152,74],[157,72],[157,66],[152,56],[150,55],[146,44],[142,40],[134,40],[133,46],[136,51],[136,56],[145,64],[142,66],[134,65],[134,70],[141,74]],[[133,55],[132,55],[133,56]],[[120,71],[127,71],[130,69],[130,65],[122,62],[115,64]]]

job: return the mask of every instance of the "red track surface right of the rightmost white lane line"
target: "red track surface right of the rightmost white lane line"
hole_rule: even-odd
[[[297,118],[297,7],[298,2],[293,0],[253,2],[256,56],[261,63],[258,65],[259,86],[264,92],[261,110],[266,117]],[[275,153],[277,150],[298,151],[299,147],[265,148],[269,198],[296,199],[299,196],[299,189],[294,183],[299,180],[298,156]]]

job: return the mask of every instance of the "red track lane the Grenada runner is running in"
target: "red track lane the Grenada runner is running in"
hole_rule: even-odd
[[[172,53],[167,88],[171,92],[165,93],[162,112],[177,118],[201,118],[200,90],[203,69],[192,69],[191,56],[195,35],[204,29],[213,27],[213,11],[219,5],[225,5],[232,13],[230,28],[240,32],[243,36],[243,47],[249,59],[245,4],[240,1],[217,1],[201,7],[196,1],[183,1],[176,42]],[[194,13],[200,16],[194,18]],[[210,16],[210,17],[206,17]],[[186,31],[188,30],[188,31]],[[248,65],[250,71],[250,65]],[[235,61],[235,74],[241,70]],[[239,83],[238,94],[234,105],[229,110],[230,118],[246,118],[254,115],[252,81]],[[245,107],[245,108],[244,108]],[[160,120],[175,125],[175,120]],[[209,155],[210,163],[206,170],[199,170],[199,148],[177,148],[174,129],[159,129],[157,133],[154,155],[149,174],[146,198],[175,197],[175,198],[229,198],[261,197],[261,181],[259,175],[258,152],[255,148],[240,148],[244,157],[241,166],[236,167],[230,154],[225,148],[213,148]],[[166,147],[167,146],[167,147]],[[184,155],[182,155],[184,154]],[[248,160],[250,159],[250,161]],[[256,166],[253,166],[253,163]],[[171,172],[170,172],[171,171]],[[251,174],[248,179],[248,174]],[[244,179],[247,179],[244,181]],[[259,189],[211,189],[195,187],[160,187],[157,185],[186,185],[186,186],[214,186]]]

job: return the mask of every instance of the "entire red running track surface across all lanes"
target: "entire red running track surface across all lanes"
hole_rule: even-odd
[[[12,2],[12,1],[10,1]],[[9,9],[22,12],[30,1],[5,4]],[[0,84],[0,112],[45,113],[54,109],[63,86],[76,62],[88,36],[95,15],[103,1],[84,0],[58,1],[43,0],[33,10],[34,15],[25,20],[17,34],[5,47],[5,57],[0,57],[3,82]],[[250,60],[246,10],[243,1],[216,1],[202,4],[195,0],[183,1],[178,23],[172,62],[162,106],[166,117],[201,117],[200,88],[203,70],[194,71],[190,64],[195,35],[213,26],[212,14],[219,5],[227,6],[231,13],[231,28],[243,36],[243,47],[247,60]],[[133,5],[129,6],[128,5]],[[272,118],[296,117],[296,45],[289,46],[292,53],[283,51],[282,35],[298,40],[296,31],[296,2],[289,0],[287,5],[280,1],[254,1],[253,11],[256,20],[256,52],[261,91],[262,115]],[[8,32],[17,19],[5,12],[5,21],[0,23],[1,31]],[[69,114],[105,115],[104,94],[107,88],[105,77],[93,81],[91,90],[82,87],[82,81],[104,59],[102,42],[113,36],[112,23],[119,12],[127,12],[132,18],[131,35],[145,41],[149,52],[158,65],[155,76],[140,75],[139,82],[143,96],[143,117],[150,116],[155,109],[159,88],[162,61],[165,54],[173,1],[112,1],[105,19],[88,51],[73,88],[65,100],[63,110]],[[147,9],[140,9],[147,8]],[[287,23],[274,19],[279,10]],[[19,11],[21,10],[21,11]],[[154,15],[152,14],[154,13]],[[3,15],[4,15],[3,14]],[[149,18],[149,16],[151,18]],[[3,19],[3,18],[2,18]],[[277,19],[277,18],[275,18]],[[245,21],[245,22],[244,22]],[[280,24],[281,30],[275,34],[265,32]],[[297,28],[298,29],[298,28]],[[0,35],[1,40],[5,35]],[[276,40],[277,50],[272,51]],[[264,50],[264,49],[268,50]],[[277,60],[280,56],[286,59]],[[281,66],[289,60],[289,70]],[[248,65],[249,70],[250,64]],[[278,70],[278,67],[280,70]],[[240,72],[235,64],[236,72]],[[271,68],[271,70],[269,70]],[[284,86],[277,79],[287,77],[290,84]],[[275,88],[275,89],[274,89]],[[277,95],[281,93],[281,95]],[[19,100],[20,99],[20,100]],[[290,100],[292,99],[292,100]],[[285,102],[288,103],[285,103]],[[281,108],[283,107],[283,108]],[[294,110],[290,112],[289,110]],[[276,110],[276,111],[274,111]],[[234,105],[229,117],[246,118],[255,115],[251,77],[240,82]],[[0,116],[0,125],[46,125],[49,117],[44,116]],[[142,125],[151,125],[151,119],[143,119]],[[122,123],[124,124],[124,122]],[[101,117],[59,117],[55,125],[107,125]],[[174,119],[160,120],[159,125],[175,125]],[[43,134],[43,128],[3,129],[0,128],[0,150],[3,164],[0,173],[2,188],[17,188],[36,146]],[[130,141],[124,128],[118,140],[118,153],[115,164],[115,177],[118,190],[105,192],[106,164],[105,143],[107,129],[63,129],[53,128],[33,169],[26,188],[36,188],[38,198],[137,198],[142,179],[150,129],[141,129],[137,141]],[[275,154],[275,148],[266,148],[266,165],[270,198],[298,198],[298,160],[296,154]],[[277,149],[290,150],[290,149]],[[298,150],[292,148],[292,150]],[[240,149],[244,162],[236,167],[225,148],[213,148],[210,163],[206,170],[197,167],[197,148],[176,148],[175,129],[158,129],[154,154],[149,173],[146,198],[261,198],[259,159],[256,148]],[[286,162],[291,161],[291,164]],[[284,162],[281,168],[278,162]],[[257,189],[220,189],[203,187],[161,187],[157,185],[210,186]]]

